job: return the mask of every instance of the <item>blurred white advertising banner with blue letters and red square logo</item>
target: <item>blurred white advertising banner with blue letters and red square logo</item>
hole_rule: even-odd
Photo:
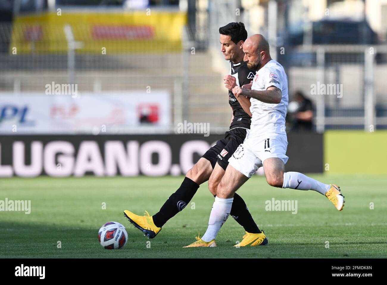
[[[72,95],[0,93],[2,134],[163,132],[171,126],[170,94],[164,90],[78,92]]]

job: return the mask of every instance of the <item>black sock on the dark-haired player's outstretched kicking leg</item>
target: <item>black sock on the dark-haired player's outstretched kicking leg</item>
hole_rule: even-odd
[[[165,201],[160,211],[152,216],[154,224],[159,228],[164,226],[170,218],[187,206],[198,188],[199,185],[195,181],[185,177],[180,188]]]

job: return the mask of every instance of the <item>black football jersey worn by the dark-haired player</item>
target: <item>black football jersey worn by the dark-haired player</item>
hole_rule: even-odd
[[[243,60],[236,64],[230,60],[229,74],[235,77],[236,85],[238,86],[251,83],[255,76],[255,72],[248,69],[247,63]],[[236,127],[250,129],[251,117],[245,112],[245,110],[243,110],[242,106],[239,104],[238,100],[231,91],[228,92],[228,103],[230,104],[231,109],[233,109],[234,115],[230,129]]]

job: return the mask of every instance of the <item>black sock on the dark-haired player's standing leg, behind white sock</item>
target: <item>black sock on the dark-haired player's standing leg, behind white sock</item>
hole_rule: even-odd
[[[253,217],[247,209],[245,201],[237,193],[234,194],[233,206],[231,207],[230,215],[243,226],[248,233],[261,233]]]

